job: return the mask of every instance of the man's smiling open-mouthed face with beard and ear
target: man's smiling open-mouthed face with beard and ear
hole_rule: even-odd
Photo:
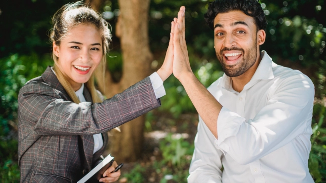
[[[215,17],[215,52],[226,75],[242,75],[258,60],[265,32],[256,29],[254,19],[242,11],[219,13]]]

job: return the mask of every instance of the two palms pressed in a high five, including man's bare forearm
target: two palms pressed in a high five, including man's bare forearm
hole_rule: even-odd
[[[164,81],[171,73],[179,79],[203,121],[217,138],[217,116],[222,105],[196,78],[189,64],[185,39],[185,10],[181,6],[178,18],[171,23],[170,41],[162,67],[157,72]],[[162,72],[164,71],[164,72]],[[164,73],[164,74],[163,74]]]

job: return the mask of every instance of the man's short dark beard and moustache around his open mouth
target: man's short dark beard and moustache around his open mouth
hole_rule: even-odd
[[[257,42],[257,41],[255,41]],[[223,51],[241,51],[243,59],[235,65],[227,65],[224,63]],[[244,51],[244,49],[232,47],[232,48],[223,48],[219,53],[216,53],[216,57],[222,65],[224,73],[229,77],[237,77],[245,73],[251,66],[253,66],[257,59],[257,46],[253,44],[249,49]],[[237,67],[238,66],[238,67]]]

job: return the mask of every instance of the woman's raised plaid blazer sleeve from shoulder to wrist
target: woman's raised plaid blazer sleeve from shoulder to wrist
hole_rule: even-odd
[[[58,90],[31,82],[18,95],[18,117],[39,135],[91,135],[106,132],[161,106],[149,77],[102,103],[76,104]]]

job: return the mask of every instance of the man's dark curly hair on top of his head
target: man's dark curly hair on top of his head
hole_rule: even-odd
[[[240,10],[255,20],[258,30],[266,31],[267,21],[265,13],[258,0],[215,0],[208,4],[204,19],[209,28],[214,30],[214,19],[218,13]]]

